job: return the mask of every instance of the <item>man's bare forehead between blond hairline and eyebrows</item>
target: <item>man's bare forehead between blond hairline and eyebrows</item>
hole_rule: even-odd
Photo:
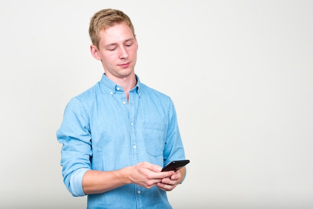
[[[134,38],[131,28],[125,22],[116,23],[104,30],[100,30],[98,36],[99,43],[104,45]]]

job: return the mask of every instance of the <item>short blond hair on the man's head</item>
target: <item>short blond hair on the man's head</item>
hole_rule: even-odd
[[[130,18],[122,11],[117,9],[102,9],[97,11],[90,19],[89,36],[93,45],[99,48],[99,32],[114,24],[125,22],[134,35],[134,28]]]

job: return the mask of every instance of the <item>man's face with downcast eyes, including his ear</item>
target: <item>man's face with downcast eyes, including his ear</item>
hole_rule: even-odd
[[[130,27],[124,22],[107,27],[99,39],[99,48],[91,45],[91,53],[101,60],[105,75],[113,81],[134,75],[138,44]]]

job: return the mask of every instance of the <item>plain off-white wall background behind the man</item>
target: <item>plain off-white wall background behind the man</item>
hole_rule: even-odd
[[[64,107],[103,72],[89,18],[128,14],[135,72],[169,95],[187,177],[174,208],[313,208],[313,1],[2,0],[0,208],[85,208],[61,177]]]

